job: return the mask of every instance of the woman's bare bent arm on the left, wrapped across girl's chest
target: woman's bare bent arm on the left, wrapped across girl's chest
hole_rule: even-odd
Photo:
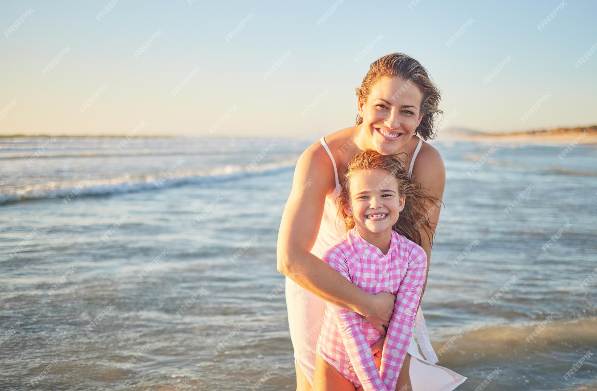
[[[319,232],[325,196],[334,183],[333,170],[321,144],[313,144],[298,158],[278,234],[278,271],[328,303],[389,322],[393,296],[371,295],[361,290],[310,253]],[[381,326],[376,328],[385,334]]]

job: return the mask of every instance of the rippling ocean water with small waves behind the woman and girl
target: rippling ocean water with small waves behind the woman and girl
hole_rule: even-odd
[[[0,138],[0,389],[293,390],[276,240],[316,139],[121,141]],[[438,364],[597,390],[597,148],[432,143]]]

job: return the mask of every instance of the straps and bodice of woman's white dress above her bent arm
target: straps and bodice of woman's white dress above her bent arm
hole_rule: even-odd
[[[342,235],[346,233],[346,224],[342,218],[337,217],[338,208],[335,201],[338,195],[340,195],[342,186],[340,185],[340,181],[338,181],[336,161],[334,161],[334,156],[330,152],[328,145],[325,143],[324,137],[321,137],[319,141],[321,141],[321,144],[324,146],[328,155],[330,155],[330,159],[334,165],[334,177],[336,178],[336,187],[334,187],[334,191],[325,196],[324,214],[321,217],[319,233],[317,234],[317,239],[311,249],[311,254],[321,258],[325,251],[336,244]],[[423,140],[419,138],[417,147],[413,153],[413,159],[411,159],[410,168],[408,168],[411,175],[413,174],[414,159],[417,158],[418,151],[421,149],[421,144],[423,144]]]

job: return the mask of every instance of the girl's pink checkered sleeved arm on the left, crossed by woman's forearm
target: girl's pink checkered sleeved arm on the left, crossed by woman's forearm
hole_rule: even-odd
[[[348,260],[338,248],[330,248],[325,252],[323,259],[331,267],[338,270],[344,278],[351,281],[348,272]],[[367,343],[367,338],[361,330],[361,315],[330,303],[325,303],[325,310],[333,315],[346,353],[364,391],[386,391],[386,386],[381,381],[380,372],[377,370],[373,353],[371,353],[371,346]]]

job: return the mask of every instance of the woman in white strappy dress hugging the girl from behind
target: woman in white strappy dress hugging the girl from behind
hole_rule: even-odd
[[[277,264],[278,271],[286,276],[297,391],[312,390],[315,348],[325,301],[365,316],[381,334],[385,334],[394,309],[394,295],[366,293],[321,260],[325,250],[346,232],[343,221],[337,219],[336,198],[342,188],[338,178],[343,177],[350,159],[365,149],[384,155],[405,152],[401,156],[413,178],[429,195],[440,200],[427,209],[432,227],[437,224],[444,193],[444,162],[435,148],[423,143],[433,138],[433,121],[441,113],[439,91],[426,69],[405,54],[388,54],[371,64],[356,95],[356,125],[322,137],[298,159],[280,224]],[[421,247],[430,260],[429,238],[433,232],[427,233]],[[428,273],[429,263],[426,276]],[[425,287],[426,284],[423,293]],[[451,390],[463,383],[466,377],[435,365],[438,360],[427,336],[420,304],[416,324],[425,358],[411,338],[396,389],[406,385],[413,391]],[[383,338],[371,346],[378,365],[381,347]]]

